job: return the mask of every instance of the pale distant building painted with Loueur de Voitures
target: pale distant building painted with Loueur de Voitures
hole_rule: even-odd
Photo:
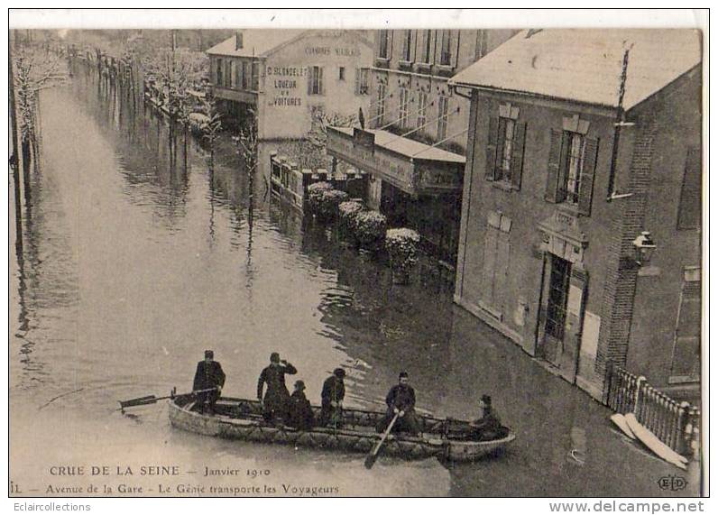
[[[207,54],[227,122],[252,109],[262,140],[301,139],[322,113],[369,107],[373,48],[362,31],[247,30]]]

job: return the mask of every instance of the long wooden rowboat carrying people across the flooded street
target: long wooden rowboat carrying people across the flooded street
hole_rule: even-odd
[[[375,427],[384,416],[381,411],[344,409],[341,428],[314,428],[300,431],[281,424],[268,424],[262,418],[262,405],[257,400],[223,397],[217,401],[214,415],[193,411],[194,398],[178,395],[170,400],[170,422],[173,427],[209,437],[222,437],[265,444],[368,453],[381,435]],[[318,417],[320,409],[312,407]],[[502,428],[492,440],[473,439],[468,422],[452,418],[417,415],[421,433],[413,437],[391,435],[384,443],[382,454],[404,459],[436,456],[449,461],[472,461],[494,455],[510,444],[516,436]]]

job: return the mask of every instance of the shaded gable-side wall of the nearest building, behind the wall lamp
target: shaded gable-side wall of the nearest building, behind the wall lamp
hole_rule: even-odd
[[[677,230],[687,147],[701,145],[701,77],[696,69],[631,114],[655,124],[644,225],[657,249],[647,274],[639,274],[627,367],[665,388],[671,370],[683,271],[701,264],[701,233]],[[693,384],[697,388],[697,384]]]

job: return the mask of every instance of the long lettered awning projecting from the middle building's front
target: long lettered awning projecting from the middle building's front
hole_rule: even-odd
[[[328,127],[327,153],[415,197],[455,194],[464,185],[463,155],[388,131]]]

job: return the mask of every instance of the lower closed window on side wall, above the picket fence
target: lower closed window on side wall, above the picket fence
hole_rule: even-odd
[[[701,376],[701,270],[686,267],[683,276],[673,359],[668,382],[696,382]]]

